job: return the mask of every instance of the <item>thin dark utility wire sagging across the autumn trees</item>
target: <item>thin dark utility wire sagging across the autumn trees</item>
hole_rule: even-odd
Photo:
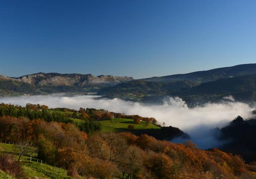
[[[35,140],[35,142],[39,142],[37,140]],[[46,144],[45,142],[39,142],[41,144],[45,144],[45,145],[49,145],[49,146],[54,146],[52,144]],[[90,157],[96,157],[96,158],[99,158],[99,159],[103,159],[103,160],[108,160],[108,161],[111,161],[111,162],[116,162],[116,163],[121,163],[121,164],[126,164],[126,165],[131,165],[131,166],[136,166],[136,167],[140,167],[140,168],[146,168],[145,166],[139,166],[139,165],[135,165],[135,164],[128,164],[128,163],[125,163],[125,162],[120,162],[120,161],[114,161],[114,160],[111,160],[111,159],[105,159],[105,158],[102,158],[102,157],[98,157],[98,156],[93,156],[91,154],[88,154],[88,153],[83,153],[83,152],[80,152],[80,151],[75,151],[75,150],[72,150],[72,149],[67,149],[67,148],[63,148],[63,147],[59,147],[61,149],[65,149],[65,150],[69,150],[69,151],[73,151],[73,152],[76,152],[76,153],[81,153],[83,155],[88,155]],[[169,173],[169,174],[172,174],[172,175],[179,175],[179,176],[183,176],[183,177],[189,177],[189,178],[194,178],[194,179],[200,179],[198,177],[192,177],[192,176],[188,176],[188,175],[183,175],[183,174],[179,174],[179,173],[173,173],[173,172],[167,172],[167,171],[161,171],[161,172],[165,172],[165,173]]]

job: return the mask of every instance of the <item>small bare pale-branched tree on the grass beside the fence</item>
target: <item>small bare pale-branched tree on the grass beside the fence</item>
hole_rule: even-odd
[[[32,155],[33,153],[37,153],[38,148],[33,147],[33,143],[32,142],[28,142],[28,141],[20,141],[17,143],[17,145],[15,146],[16,151],[19,153],[19,159],[18,161],[20,161],[20,158],[24,155]]]

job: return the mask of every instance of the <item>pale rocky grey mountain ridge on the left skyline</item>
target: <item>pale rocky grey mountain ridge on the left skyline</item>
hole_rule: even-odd
[[[86,92],[133,80],[132,77],[92,74],[36,73],[20,77],[0,76],[0,94]]]

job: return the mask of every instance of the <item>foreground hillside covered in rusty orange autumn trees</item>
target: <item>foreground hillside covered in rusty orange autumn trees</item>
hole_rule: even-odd
[[[167,140],[157,140],[146,134],[134,135],[130,132],[90,130],[86,133],[81,131],[83,127],[80,128],[79,125],[71,124],[66,120],[63,123],[57,122],[58,118],[49,120],[40,116],[40,113],[45,113],[43,110],[47,110],[46,106],[27,105],[24,110],[18,110],[15,106],[9,108],[9,106],[4,104],[1,106],[1,113],[6,114],[0,117],[1,140],[6,143],[10,142],[10,144],[0,145],[4,148],[0,157],[0,170],[17,178],[38,178],[44,175],[48,178],[68,178],[70,176],[72,178],[102,179],[118,177],[126,179],[256,177],[254,164],[245,164],[238,155],[225,153],[219,149],[206,151],[198,149],[191,141],[174,144]],[[26,110],[32,112],[26,113]],[[70,109],[59,109],[59,111],[61,110],[70,112]],[[86,114],[91,115],[95,111],[102,112],[104,110],[81,108],[72,114],[74,116],[79,114],[85,122],[89,122]],[[28,117],[30,114],[33,115],[28,118],[25,117],[27,114],[29,114]],[[122,114],[117,113],[116,115],[121,117]],[[93,121],[97,122],[97,120]],[[134,121],[136,122],[136,120]],[[16,148],[14,151],[13,147]],[[6,153],[8,150],[13,152],[12,155]],[[43,162],[42,164],[33,161],[25,162],[26,156],[29,159],[32,156],[35,161],[42,160],[47,165]],[[2,163],[5,165],[1,165]],[[52,168],[49,167],[49,164]],[[11,166],[19,170],[11,172]],[[61,167],[62,172],[54,172],[54,166],[58,170]],[[52,173],[39,172],[43,169],[42,167]],[[66,173],[63,172],[63,169]],[[63,173],[65,174],[63,175]]]

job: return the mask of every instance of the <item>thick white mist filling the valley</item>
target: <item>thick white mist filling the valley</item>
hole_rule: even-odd
[[[71,96],[51,94],[46,96],[2,97],[0,102],[25,106],[26,103],[44,104],[50,108],[67,107],[79,109],[89,107],[107,109],[117,113],[138,114],[143,117],[154,117],[160,124],[178,127],[187,132],[193,142],[200,148],[217,147],[219,142],[210,134],[215,127],[223,127],[237,115],[244,119],[253,118],[250,113],[253,107],[237,102],[231,96],[223,98],[220,103],[206,103],[203,106],[188,108],[181,98],[168,98],[162,105],[144,105],[120,99],[98,99],[98,96]],[[174,140],[179,142],[180,140]]]

